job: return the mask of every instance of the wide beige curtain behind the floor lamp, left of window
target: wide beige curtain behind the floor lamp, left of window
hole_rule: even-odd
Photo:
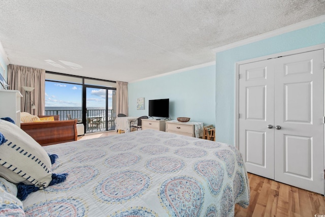
[[[8,66],[8,83],[10,89],[19,90],[23,96],[20,104],[20,111],[25,108],[25,90],[22,86],[35,87],[30,92],[30,100],[36,106],[31,109],[30,113],[34,115],[44,115],[45,113],[45,70],[34,69],[24,66],[9,65]],[[28,103],[28,102],[27,102]],[[30,106],[30,102],[27,104]]]

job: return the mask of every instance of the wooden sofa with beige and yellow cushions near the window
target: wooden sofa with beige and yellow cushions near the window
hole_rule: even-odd
[[[77,140],[77,120],[59,120],[59,115],[36,116],[20,114],[20,128],[40,145],[52,145]]]

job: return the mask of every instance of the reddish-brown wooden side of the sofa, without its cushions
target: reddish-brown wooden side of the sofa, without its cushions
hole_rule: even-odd
[[[77,119],[21,123],[20,128],[40,145],[77,140]]]

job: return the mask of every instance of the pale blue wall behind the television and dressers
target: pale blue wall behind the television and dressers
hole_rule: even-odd
[[[137,110],[138,98],[144,98],[145,110]],[[129,83],[129,116],[148,115],[148,100],[166,98],[171,119],[215,125],[215,65]]]

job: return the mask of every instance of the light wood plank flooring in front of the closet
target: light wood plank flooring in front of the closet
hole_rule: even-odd
[[[325,216],[325,197],[248,173],[250,204],[235,206],[235,216]]]

